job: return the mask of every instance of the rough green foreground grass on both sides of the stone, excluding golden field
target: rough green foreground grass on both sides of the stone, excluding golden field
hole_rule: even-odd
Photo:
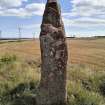
[[[68,105],[105,105],[105,72],[70,65]],[[33,105],[40,81],[40,63],[16,55],[0,57],[0,105]]]

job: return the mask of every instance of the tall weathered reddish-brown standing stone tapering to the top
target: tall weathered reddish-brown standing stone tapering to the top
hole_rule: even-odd
[[[37,105],[64,105],[66,94],[67,45],[57,0],[48,0],[40,33],[41,81]]]

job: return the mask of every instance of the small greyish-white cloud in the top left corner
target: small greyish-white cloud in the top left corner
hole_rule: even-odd
[[[27,0],[0,0],[0,6],[2,8],[18,7],[22,5],[22,2]]]

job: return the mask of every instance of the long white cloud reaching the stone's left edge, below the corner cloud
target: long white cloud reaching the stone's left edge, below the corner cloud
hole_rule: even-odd
[[[10,8],[0,10],[0,16],[18,16],[18,17],[30,17],[33,15],[42,16],[44,12],[45,4],[32,3],[26,5],[24,8]]]

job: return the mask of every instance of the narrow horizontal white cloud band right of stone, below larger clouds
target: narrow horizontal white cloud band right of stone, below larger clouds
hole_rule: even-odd
[[[77,27],[77,28],[96,28],[105,27],[104,19],[83,17],[78,19],[67,19],[63,18],[65,27]]]

